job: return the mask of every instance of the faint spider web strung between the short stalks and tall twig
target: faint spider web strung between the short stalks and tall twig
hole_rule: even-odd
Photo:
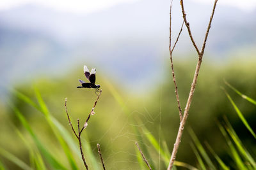
[[[102,146],[101,152],[107,169],[141,169],[140,162],[138,162],[136,155],[136,150],[138,150],[138,148],[136,145],[134,145],[135,142],[139,143],[141,150],[143,151],[150,165],[152,162],[154,162],[156,169],[161,169],[161,148],[156,150],[154,146],[148,142],[144,134],[145,131],[143,131],[145,127],[158,127],[159,131],[155,131],[157,134],[153,134],[153,136],[156,138],[161,147],[162,85],[160,86],[159,93],[159,103],[156,103],[155,108],[158,111],[150,113],[150,111],[147,109],[145,101],[143,101],[142,106],[137,106],[140,108],[140,111],[130,110],[127,111],[127,114],[125,114],[124,108],[121,108],[119,111],[115,111],[116,115],[113,119],[110,119],[111,123],[108,124],[107,129],[105,128],[106,131],[100,134],[97,138],[90,140],[93,153],[97,153],[97,147],[94,145],[94,143],[100,143],[100,146]],[[125,101],[126,106],[127,103],[129,103],[129,99],[126,99]],[[116,106],[116,108],[118,108],[118,106]],[[97,116],[99,117],[99,115]],[[137,118],[139,118],[141,121],[136,121]],[[90,124],[92,128],[93,123],[91,122]],[[141,131],[140,134],[138,134],[138,132],[136,132],[134,129],[139,129],[139,131]],[[148,132],[152,133],[150,130],[148,130]],[[143,148],[146,148],[147,150],[145,151]],[[148,157],[148,154],[150,157]],[[145,162],[142,162],[141,164],[143,164],[143,167],[145,167],[144,169],[148,169]],[[99,166],[101,166],[100,161]],[[93,169],[93,167],[90,167],[90,169]]]

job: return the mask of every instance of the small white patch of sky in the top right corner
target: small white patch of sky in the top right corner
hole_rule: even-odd
[[[207,3],[213,4],[214,0],[193,0],[198,3]],[[256,0],[219,0],[218,4],[227,5],[227,6],[235,6],[244,11],[252,11],[256,8]]]

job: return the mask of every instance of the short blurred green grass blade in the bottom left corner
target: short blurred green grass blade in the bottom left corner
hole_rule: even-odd
[[[28,164],[26,164],[25,162],[23,162],[19,158],[15,157],[15,155],[13,155],[12,153],[4,150],[3,148],[0,148],[0,154],[3,157],[5,157],[6,159],[8,159],[11,162],[13,162],[14,164],[16,164],[17,166],[19,166],[20,168],[25,169],[25,170],[32,170],[32,168],[29,167]]]

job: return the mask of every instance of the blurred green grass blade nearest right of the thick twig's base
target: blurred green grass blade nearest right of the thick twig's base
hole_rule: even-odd
[[[211,169],[216,169],[216,167],[214,166],[214,164],[212,163],[211,159],[209,158],[209,156],[207,155],[207,153],[205,152],[204,147],[201,145],[200,141],[198,140],[198,138],[196,137],[195,132],[193,132],[193,130],[191,128],[188,129],[189,134],[191,136],[191,138],[193,139],[196,148],[198,148],[198,151],[201,153],[203,159],[205,160],[205,162],[207,163],[207,165],[211,168]]]

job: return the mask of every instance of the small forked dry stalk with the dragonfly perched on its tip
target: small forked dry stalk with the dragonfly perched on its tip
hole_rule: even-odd
[[[102,92],[102,90],[100,90],[100,94],[101,94],[101,92]],[[68,110],[67,110],[67,98],[65,98],[65,110],[66,110],[66,113],[67,113],[68,122],[69,122],[69,125],[71,126],[71,129],[72,129],[72,131],[74,132],[76,138],[77,138],[78,141],[79,141],[79,148],[80,148],[80,152],[81,152],[81,158],[82,158],[82,160],[83,160],[83,162],[84,162],[84,167],[85,167],[87,170],[88,170],[88,165],[86,164],[86,160],[84,159],[84,153],[83,153],[82,142],[81,142],[81,134],[82,134],[83,130],[87,127],[87,125],[88,125],[88,120],[90,119],[91,115],[94,115],[94,114],[95,114],[95,113],[94,113],[94,108],[95,108],[95,106],[96,106],[96,104],[97,104],[97,102],[98,102],[98,100],[99,100],[100,94],[99,94],[99,96],[97,97],[97,99],[96,99],[96,101],[95,101],[95,103],[94,103],[94,105],[93,105],[92,111],[89,113],[88,118],[86,119],[86,122],[84,123],[84,126],[83,126],[83,128],[81,129],[81,131],[80,131],[80,122],[79,122],[79,119],[77,119],[78,135],[77,135],[77,132],[75,131],[75,129],[74,129],[73,125],[72,125],[72,122],[71,122],[71,120],[70,120],[70,117],[69,117],[69,115],[68,115]]]

